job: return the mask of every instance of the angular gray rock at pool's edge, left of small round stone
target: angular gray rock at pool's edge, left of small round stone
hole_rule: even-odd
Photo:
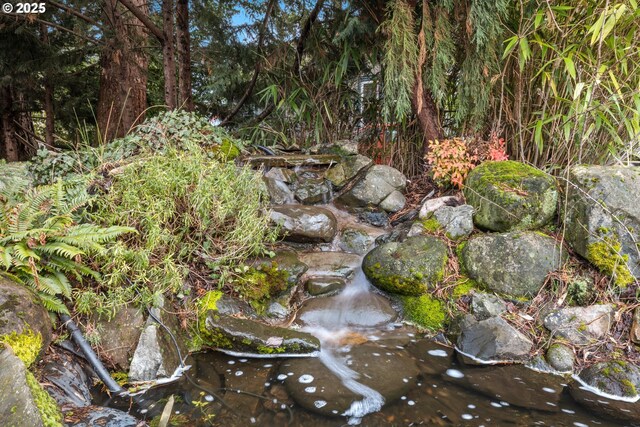
[[[490,361],[523,361],[533,343],[501,317],[479,322],[466,319],[458,337],[458,348],[473,358]],[[466,363],[478,363],[465,358]]]

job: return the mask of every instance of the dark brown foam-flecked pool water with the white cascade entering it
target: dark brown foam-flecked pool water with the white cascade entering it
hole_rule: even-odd
[[[317,358],[193,354],[179,380],[105,403],[149,421],[174,396],[169,425],[185,426],[633,425],[579,405],[570,378],[522,365],[463,364],[452,348],[398,323],[359,269],[324,299],[296,320],[320,339]],[[584,402],[590,399],[608,404],[595,394]]]

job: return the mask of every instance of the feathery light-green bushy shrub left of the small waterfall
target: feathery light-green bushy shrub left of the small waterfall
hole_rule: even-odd
[[[192,267],[213,271],[222,286],[233,265],[275,241],[264,213],[267,200],[260,174],[210,159],[195,146],[170,147],[124,168],[92,218],[133,226],[138,234],[101,259],[105,294],[113,297],[100,302],[122,300],[129,289],[147,297],[178,293]]]

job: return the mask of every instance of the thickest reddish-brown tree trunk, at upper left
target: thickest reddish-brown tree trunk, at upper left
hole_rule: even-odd
[[[148,14],[145,0],[133,3]],[[108,142],[124,136],[144,119],[149,59],[143,50],[148,36],[140,21],[117,0],[105,0],[104,12],[111,33],[104,35],[106,43],[100,54],[97,110],[102,142]]]

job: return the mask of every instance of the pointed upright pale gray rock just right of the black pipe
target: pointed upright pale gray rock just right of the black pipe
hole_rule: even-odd
[[[180,357],[184,359],[187,356],[188,338],[180,327],[178,319],[165,311],[163,305],[164,301],[160,307],[152,308],[151,312],[171,330],[180,353],[171,335],[151,316],[147,317],[129,366],[129,379],[132,381],[153,381],[157,378],[170,377],[180,366]]]

